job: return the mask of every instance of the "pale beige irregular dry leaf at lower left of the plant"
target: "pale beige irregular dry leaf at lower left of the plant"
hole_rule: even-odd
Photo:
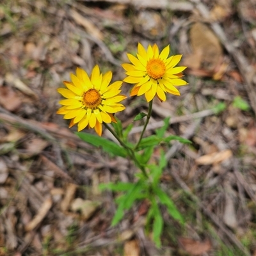
[[[70,208],[74,212],[81,211],[83,220],[88,220],[100,205],[101,203],[97,201],[83,200],[82,198],[76,198],[72,202]]]

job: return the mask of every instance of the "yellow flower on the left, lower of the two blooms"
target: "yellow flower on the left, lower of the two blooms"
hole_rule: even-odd
[[[119,95],[122,81],[109,85],[112,72],[102,76],[99,66],[92,70],[91,77],[81,68],[77,68],[76,76],[70,74],[72,82],[64,81],[67,88],[58,88],[58,92],[67,98],[60,100],[63,105],[57,113],[64,115],[64,119],[71,119],[69,127],[77,124],[78,131],[85,127],[94,128],[97,134],[102,134],[102,122],[116,122],[113,113],[125,109],[118,103],[127,98]]]

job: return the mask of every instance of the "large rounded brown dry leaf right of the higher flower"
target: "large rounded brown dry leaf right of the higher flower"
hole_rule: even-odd
[[[201,22],[192,25],[189,33],[192,54],[184,58],[184,65],[194,70],[214,73],[223,59],[223,50],[217,36]]]

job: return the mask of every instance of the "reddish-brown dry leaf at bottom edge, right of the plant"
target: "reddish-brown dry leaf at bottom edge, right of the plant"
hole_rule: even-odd
[[[187,237],[179,237],[179,243],[182,245],[184,250],[191,255],[200,255],[208,252],[212,248],[212,244],[209,239],[201,242]]]

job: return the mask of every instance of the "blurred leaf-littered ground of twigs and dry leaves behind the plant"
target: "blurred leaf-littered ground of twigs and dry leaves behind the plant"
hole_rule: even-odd
[[[146,133],[170,116],[168,134],[193,142],[164,148],[170,163],[161,185],[186,225],[163,208],[161,248],[143,228],[148,202],[111,227],[116,195],[98,188],[132,181],[136,167],[79,140],[56,115],[56,89],[70,72],[90,74],[98,64],[122,80],[120,64],[138,42],[170,44],[188,67],[180,97],[154,99]],[[255,45],[253,0],[2,0],[0,255],[255,256]],[[122,93],[131,88],[124,83]],[[117,115],[124,127],[147,113],[144,97],[124,104]],[[131,140],[141,125],[134,123]]]

